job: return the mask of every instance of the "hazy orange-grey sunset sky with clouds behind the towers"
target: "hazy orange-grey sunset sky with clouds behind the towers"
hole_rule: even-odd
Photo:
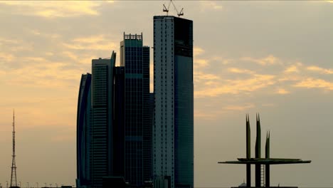
[[[21,186],[75,184],[80,76],[91,73],[91,59],[119,52],[124,32],[143,33],[153,46],[153,16],[165,15],[163,4],[169,1],[0,1],[4,187],[14,109]],[[245,157],[247,113],[252,155],[260,113],[271,157],[312,160],[271,167],[271,185],[333,187],[333,1],[174,4],[194,21],[195,187],[245,180],[245,166],[217,162]]]

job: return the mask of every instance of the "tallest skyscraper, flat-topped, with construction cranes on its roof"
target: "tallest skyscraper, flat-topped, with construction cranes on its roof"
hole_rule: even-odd
[[[194,187],[193,21],[154,16],[153,174]]]

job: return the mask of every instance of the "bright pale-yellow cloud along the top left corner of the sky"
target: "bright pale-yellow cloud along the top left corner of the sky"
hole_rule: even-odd
[[[99,15],[97,7],[101,1],[0,1],[14,6],[12,14],[41,16],[44,18]]]

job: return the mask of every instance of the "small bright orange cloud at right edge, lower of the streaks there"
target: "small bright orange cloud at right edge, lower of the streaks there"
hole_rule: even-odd
[[[307,78],[294,85],[298,88],[324,88],[327,90],[333,90],[333,83],[322,79]]]

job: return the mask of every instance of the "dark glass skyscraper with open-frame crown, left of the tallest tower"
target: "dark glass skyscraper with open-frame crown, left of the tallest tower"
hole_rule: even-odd
[[[120,42],[120,66],[125,68],[125,180],[134,186],[152,176],[149,47],[142,41],[142,34],[124,33]]]

